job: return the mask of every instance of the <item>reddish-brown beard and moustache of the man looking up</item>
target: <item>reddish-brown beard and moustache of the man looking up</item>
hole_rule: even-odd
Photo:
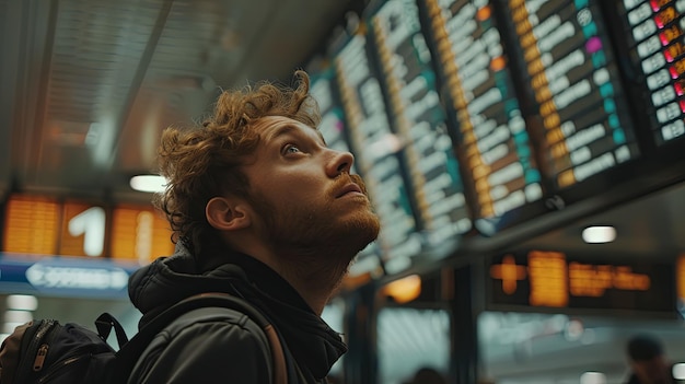
[[[336,207],[335,194],[349,183],[359,185],[368,197],[359,175],[341,174],[324,194],[325,203],[278,203],[268,201],[262,194],[253,194],[249,200],[263,218],[268,240],[277,252],[286,251],[306,263],[338,255],[338,263],[324,264],[339,264],[347,270],[357,254],[378,237],[381,228],[370,202],[365,207],[356,203],[348,211]]]

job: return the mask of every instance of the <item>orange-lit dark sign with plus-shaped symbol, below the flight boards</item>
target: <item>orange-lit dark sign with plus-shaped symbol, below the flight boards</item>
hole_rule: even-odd
[[[494,258],[489,303],[675,313],[673,266],[531,251]]]

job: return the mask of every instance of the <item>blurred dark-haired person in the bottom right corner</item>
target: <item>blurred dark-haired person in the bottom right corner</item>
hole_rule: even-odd
[[[632,336],[627,344],[631,374],[627,384],[675,383],[672,364],[669,363],[661,341],[650,335]]]

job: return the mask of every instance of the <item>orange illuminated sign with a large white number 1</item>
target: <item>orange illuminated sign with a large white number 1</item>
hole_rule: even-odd
[[[40,196],[11,196],[7,203],[3,253],[89,256],[148,264],[171,255],[166,220],[143,205],[106,207]]]

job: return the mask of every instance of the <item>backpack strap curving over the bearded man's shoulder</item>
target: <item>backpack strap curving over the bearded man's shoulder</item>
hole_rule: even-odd
[[[130,374],[135,364],[138,362],[138,358],[142,353],[142,351],[148,347],[150,341],[152,341],[152,339],[160,331],[162,331],[162,329],[164,329],[166,325],[171,324],[178,316],[187,312],[209,306],[235,310],[240,313],[247,315],[247,317],[255,322],[259,326],[259,328],[264,330],[264,334],[269,341],[269,346],[271,349],[271,360],[274,365],[274,383],[288,383],[286,357],[283,354],[283,348],[280,342],[280,338],[276,331],[276,328],[274,328],[271,323],[259,311],[257,311],[246,301],[230,295],[228,293],[218,292],[200,293],[184,299],[177,304],[162,312],[150,323],[146,324],[146,326],[143,326],[140,331],[117,352],[117,369],[115,370],[115,373],[118,375],[118,377],[115,377],[114,383],[126,383],[128,374]]]

